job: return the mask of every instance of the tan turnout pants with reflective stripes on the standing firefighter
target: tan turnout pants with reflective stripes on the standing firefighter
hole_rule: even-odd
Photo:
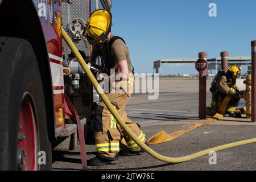
[[[127,126],[137,135],[138,139],[146,142],[145,135],[137,123],[134,123],[129,118],[125,111],[127,101],[131,94],[126,93],[109,93],[106,94],[112,103],[113,107],[118,111],[118,114],[126,122]],[[119,142],[124,138],[130,150],[140,151],[139,147],[119,126],[118,122],[110,113],[104,102],[100,102],[96,109],[96,117],[94,118],[94,129],[96,148],[98,155],[107,159],[113,159],[119,152]]]

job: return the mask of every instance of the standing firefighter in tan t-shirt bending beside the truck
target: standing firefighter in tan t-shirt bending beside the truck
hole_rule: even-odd
[[[98,81],[103,78],[104,82],[110,82],[114,78],[114,86],[120,80],[115,79],[115,75],[122,75],[122,84],[125,82],[127,88],[133,86],[133,67],[130,62],[129,50],[125,41],[111,33],[112,14],[106,10],[96,10],[92,13],[84,30],[84,36],[87,41],[92,44],[92,54],[90,63],[95,64],[98,56],[101,56],[102,73],[98,75]],[[114,70],[114,74],[110,70]],[[107,76],[106,76],[107,75]],[[124,86],[125,88],[125,86]],[[105,92],[106,89],[104,89]],[[110,90],[108,90],[110,91]],[[125,112],[127,101],[131,98],[131,90],[114,89],[114,93],[105,92],[106,96],[118,111],[126,124],[137,135],[138,139],[146,142],[145,135],[137,123],[134,123]],[[89,166],[103,166],[106,164],[116,164],[119,155],[133,156],[141,155],[141,147],[138,146],[115,121],[115,118],[105,106],[104,102],[100,102],[94,112],[93,117],[94,136],[96,139],[97,155],[89,160]],[[127,149],[119,151],[119,142],[124,138]],[[121,154],[122,153],[122,154]]]

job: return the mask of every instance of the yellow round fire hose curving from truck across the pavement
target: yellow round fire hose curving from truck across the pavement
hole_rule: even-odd
[[[111,102],[108,100],[108,97],[106,97],[106,94],[101,89],[101,87],[98,84],[96,78],[94,78],[92,72],[90,72],[90,69],[86,65],[84,59],[80,55],[80,53],[79,53],[78,49],[76,48],[75,44],[73,44],[72,40],[69,38],[68,34],[65,32],[64,28],[61,28],[61,34],[62,34],[63,39],[65,40],[65,42],[67,42],[69,48],[71,48],[71,51],[76,56],[76,59],[79,61],[81,67],[84,69],[84,71],[86,73],[86,76],[90,79],[94,88],[97,90],[97,93],[102,98],[102,101],[104,101],[104,104],[108,107],[110,113],[112,113],[112,115],[117,120],[119,125],[121,125],[122,128],[127,132],[127,134],[129,134],[131,139],[133,139],[141,148],[143,148],[143,150],[145,150],[148,154],[150,154],[154,158],[156,158],[158,160],[162,160],[163,162],[167,162],[167,163],[182,163],[182,162],[186,162],[188,160],[199,158],[200,156],[203,156],[203,155],[208,155],[212,151],[216,152],[216,151],[224,150],[224,149],[227,149],[227,148],[232,148],[232,147],[235,147],[235,146],[241,146],[243,144],[249,144],[249,143],[256,142],[256,138],[249,139],[249,140],[243,140],[243,141],[240,141],[240,142],[234,142],[234,143],[229,143],[229,144],[225,144],[225,145],[218,146],[218,147],[209,148],[208,150],[204,150],[204,151],[197,152],[195,154],[191,154],[191,155],[187,155],[187,156],[183,156],[183,157],[180,157],[180,158],[170,158],[168,156],[163,156],[163,155],[158,154],[157,152],[152,150],[150,147],[148,147],[146,144],[141,142],[141,140],[139,140],[137,138],[137,136],[133,133],[133,131],[131,131],[131,129],[126,125],[126,123],[123,121],[123,119],[119,116],[119,114],[114,109]]]

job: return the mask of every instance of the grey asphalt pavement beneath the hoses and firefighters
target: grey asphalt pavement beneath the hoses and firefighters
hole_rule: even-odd
[[[210,80],[207,81],[210,85]],[[243,87],[243,85],[241,85]],[[209,89],[209,88],[208,88]],[[208,90],[207,89],[207,90]],[[243,88],[242,88],[243,89]],[[198,81],[162,80],[158,100],[148,100],[147,94],[134,94],[127,105],[127,114],[142,126],[149,138],[159,131],[172,133],[202,122],[198,119]],[[207,105],[211,95],[207,93]],[[245,105],[241,101],[240,106]],[[168,143],[150,146],[156,152],[180,157],[240,140],[256,138],[255,123],[249,119],[223,118],[221,121],[193,130]],[[88,159],[96,155],[96,147],[86,145]],[[216,153],[216,163],[209,164],[212,155],[185,163],[168,164],[147,153],[139,156],[119,156],[115,165],[88,167],[88,170],[255,170],[256,143],[233,147]],[[79,147],[73,151],[54,151],[53,170],[80,170]]]

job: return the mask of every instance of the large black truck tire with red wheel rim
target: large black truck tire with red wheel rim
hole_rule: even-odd
[[[0,37],[0,74],[0,170],[51,169],[43,85],[30,43]]]

